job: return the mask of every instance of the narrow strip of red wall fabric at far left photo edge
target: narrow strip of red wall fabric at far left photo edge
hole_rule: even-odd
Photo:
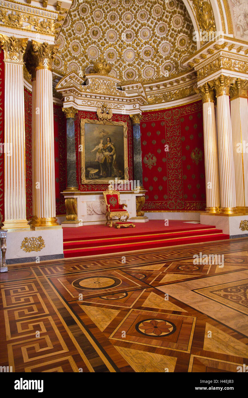
[[[4,52],[0,49],[0,142],[4,143]],[[2,152],[2,153],[1,153]],[[0,152],[0,219],[4,221],[4,153]]]

